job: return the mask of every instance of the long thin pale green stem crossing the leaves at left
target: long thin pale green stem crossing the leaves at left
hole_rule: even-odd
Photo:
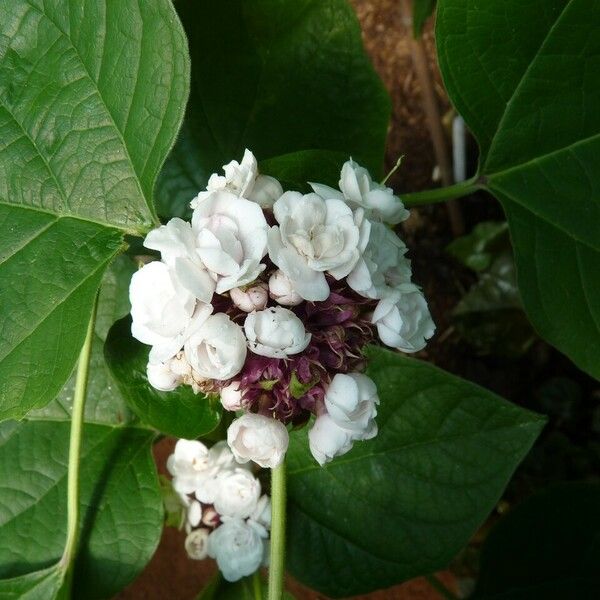
[[[96,302],[94,302],[94,307],[92,308],[92,316],[88,324],[85,341],[83,342],[83,347],[81,348],[79,361],[77,363],[75,394],[73,396],[73,410],[71,413],[69,472],[67,480],[67,540],[60,560],[60,566],[65,572],[67,586],[70,586],[69,582],[72,577],[72,567],[77,552],[79,534],[79,459],[81,454],[81,432],[83,429],[83,412],[95,323]]]

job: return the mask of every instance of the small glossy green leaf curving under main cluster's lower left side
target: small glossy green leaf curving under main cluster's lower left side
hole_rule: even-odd
[[[154,389],[146,377],[149,346],[131,337],[131,319],[117,321],[105,345],[105,357],[121,394],[143,423],[163,433],[192,439],[212,431],[221,420],[221,404],[181,385],[172,392]]]

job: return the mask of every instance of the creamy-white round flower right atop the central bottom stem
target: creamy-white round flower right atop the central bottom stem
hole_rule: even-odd
[[[281,421],[247,413],[231,423],[227,443],[239,462],[252,460],[265,469],[273,469],[283,461],[289,436]]]

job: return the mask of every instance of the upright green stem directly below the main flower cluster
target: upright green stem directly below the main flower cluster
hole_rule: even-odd
[[[285,461],[271,470],[269,600],[281,600],[285,576]]]

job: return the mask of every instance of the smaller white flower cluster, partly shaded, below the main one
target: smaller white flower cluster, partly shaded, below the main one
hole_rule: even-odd
[[[216,559],[227,581],[251,575],[268,559],[271,501],[260,481],[238,463],[226,442],[207,449],[179,440],[167,468],[185,511],[190,558]]]

